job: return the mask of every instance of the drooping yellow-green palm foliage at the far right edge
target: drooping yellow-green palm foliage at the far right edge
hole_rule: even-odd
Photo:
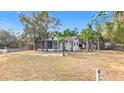
[[[112,18],[112,21],[105,23],[103,37],[111,44],[124,43],[124,12],[113,12]]]

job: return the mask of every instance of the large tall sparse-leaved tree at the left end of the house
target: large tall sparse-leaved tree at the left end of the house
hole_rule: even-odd
[[[47,11],[32,12],[31,15],[22,13],[20,19],[24,25],[25,37],[30,37],[33,40],[34,50],[37,49],[37,45],[41,40],[46,40],[49,29],[57,29],[60,25],[59,19],[50,16]]]

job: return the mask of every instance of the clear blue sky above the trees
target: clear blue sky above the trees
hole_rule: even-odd
[[[0,12],[0,28],[11,29],[15,33],[23,32],[24,26],[20,22],[20,12],[18,11],[3,11]],[[55,11],[51,15],[57,17],[61,21],[60,31],[66,28],[77,28],[80,32],[82,29],[87,28],[87,24],[91,22],[92,16],[96,12],[90,11]]]

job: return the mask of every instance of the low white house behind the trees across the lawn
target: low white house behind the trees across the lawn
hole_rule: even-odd
[[[79,38],[77,36],[66,38],[64,47],[65,51],[79,51],[80,50]],[[48,51],[62,51],[63,47],[57,37],[49,37],[48,39],[41,41],[40,49]]]

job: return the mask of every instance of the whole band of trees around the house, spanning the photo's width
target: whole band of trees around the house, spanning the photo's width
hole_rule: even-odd
[[[83,29],[81,33],[77,28],[65,28],[64,31],[59,31],[61,22],[51,13],[48,11],[22,12],[20,21],[24,26],[24,31],[21,35],[16,36],[10,30],[1,29],[0,46],[27,48],[33,46],[33,49],[36,50],[38,44],[49,36],[56,36],[61,43],[64,43],[65,38],[77,35],[86,44],[87,52],[93,44],[97,45],[98,51],[105,47],[105,42],[109,42],[111,45],[124,44],[124,12],[122,11],[96,13],[92,16],[87,28]]]

